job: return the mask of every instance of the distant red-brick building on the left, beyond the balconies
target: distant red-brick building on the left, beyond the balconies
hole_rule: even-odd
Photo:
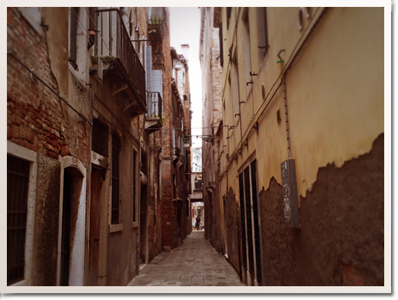
[[[184,147],[185,136],[190,131],[188,61],[177,54],[175,48],[165,52],[165,61],[170,63],[163,80],[163,112],[166,116],[162,130],[161,153],[161,199],[162,199],[162,249],[170,251],[183,242],[192,230],[188,192],[190,181],[189,148]],[[167,97],[166,97],[167,90]],[[188,149],[188,150],[187,150]]]

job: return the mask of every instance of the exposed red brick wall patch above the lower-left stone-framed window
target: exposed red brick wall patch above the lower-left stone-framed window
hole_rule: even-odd
[[[58,92],[52,75],[46,34],[30,27],[17,8],[7,9],[7,50]],[[67,62],[66,62],[67,63]],[[65,99],[65,98],[64,98]],[[66,100],[68,101],[68,100]],[[69,114],[69,116],[68,116]],[[90,126],[70,110],[12,55],[7,56],[7,139],[48,157],[72,155],[88,164]]]

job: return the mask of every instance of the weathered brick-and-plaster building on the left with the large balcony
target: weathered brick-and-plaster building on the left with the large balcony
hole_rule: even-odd
[[[126,286],[161,251],[167,16],[8,8],[8,285]]]

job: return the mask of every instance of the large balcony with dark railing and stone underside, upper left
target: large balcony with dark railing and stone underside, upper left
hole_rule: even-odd
[[[117,8],[96,10],[101,35],[96,55],[97,74],[110,80],[111,95],[123,99],[123,112],[130,117],[147,112],[146,75],[141,61],[130,41],[121,13]]]

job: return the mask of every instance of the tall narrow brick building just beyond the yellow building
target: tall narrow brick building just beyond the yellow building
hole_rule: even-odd
[[[199,57],[202,71],[203,98],[203,202],[205,210],[205,237],[222,252],[221,210],[219,197],[219,140],[215,133],[222,125],[221,108],[221,54],[219,28],[213,26],[215,8],[201,8],[201,35]],[[209,139],[210,138],[210,139]]]

